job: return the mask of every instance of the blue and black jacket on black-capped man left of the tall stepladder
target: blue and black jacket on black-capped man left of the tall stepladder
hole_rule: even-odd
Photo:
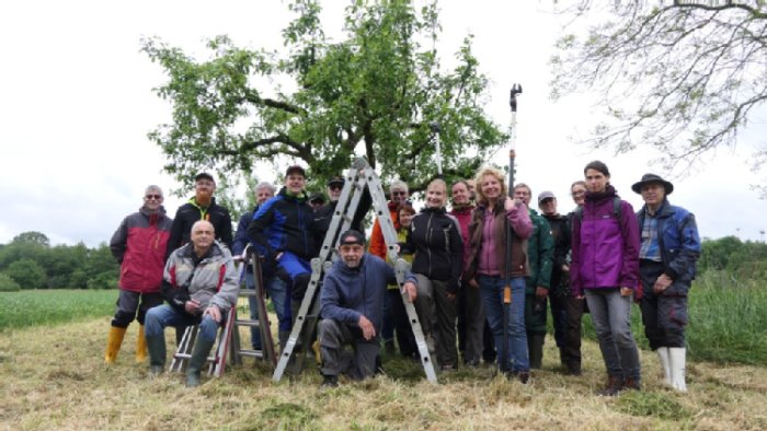
[[[248,236],[261,247],[270,261],[281,252],[290,252],[305,260],[318,254],[314,212],[307,203],[306,196],[288,196],[285,187],[253,214],[248,225]]]

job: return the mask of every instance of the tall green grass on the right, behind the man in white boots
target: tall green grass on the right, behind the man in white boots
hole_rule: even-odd
[[[688,308],[688,358],[767,365],[767,282],[734,282],[725,272],[707,271],[695,281]],[[638,304],[631,310],[631,329],[639,347],[650,349]],[[588,314],[583,318],[583,336],[596,340]]]

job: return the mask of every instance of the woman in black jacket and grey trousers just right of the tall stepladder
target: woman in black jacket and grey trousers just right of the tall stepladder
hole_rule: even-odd
[[[403,252],[413,252],[412,272],[419,280],[415,311],[430,350],[442,370],[458,366],[456,295],[460,289],[463,240],[458,221],[447,214],[447,185],[435,179],[426,188],[426,207],[413,218]],[[432,349],[432,346],[434,348]]]

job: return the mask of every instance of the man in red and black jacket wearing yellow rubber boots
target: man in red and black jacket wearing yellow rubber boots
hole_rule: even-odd
[[[172,220],[162,207],[162,189],[147,187],[144,206],[126,217],[112,235],[110,248],[121,264],[119,296],[117,311],[112,319],[112,329],[106,342],[104,361],[114,363],[123,343],[125,330],[136,318],[141,325],[136,342],[136,362],[147,359],[147,342],[144,338],[144,317],[147,311],[162,304],[160,283],[164,268],[165,247],[170,237]]]

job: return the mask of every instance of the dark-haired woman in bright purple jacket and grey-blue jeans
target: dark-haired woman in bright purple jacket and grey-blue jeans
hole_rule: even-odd
[[[607,368],[599,395],[640,388],[637,342],[631,334],[631,298],[639,283],[639,228],[631,205],[610,185],[610,173],[594,161],[583,170],[586,198],[572,223],[570,287],[583,298]]]

